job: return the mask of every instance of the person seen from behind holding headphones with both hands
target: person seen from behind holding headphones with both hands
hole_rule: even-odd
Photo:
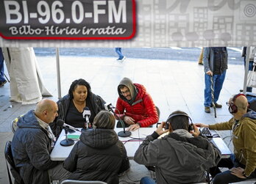
[[[166,132],[168,135],[157,139]],[[141,184],[205,182],[205,171],[217,165],[221,152],[199,133],[188,114],[171,113],[135,152],[135,162],[155,166],[156,171],[156,180],[143,177]]]

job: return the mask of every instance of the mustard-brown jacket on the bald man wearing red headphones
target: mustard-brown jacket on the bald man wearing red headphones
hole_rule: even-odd
[[[235,122],[232,117],[228,122],[209,125],[213,130],[232,130],[235,158],[246,166],[244,172],[249,176],[256,169],[256,112],[249,110]]]

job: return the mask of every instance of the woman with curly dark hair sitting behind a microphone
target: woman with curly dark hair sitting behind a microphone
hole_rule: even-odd
[[[93,94],[90,89],[90,84],[82,78],[72,82],[68,90],[68,95],[65,95],[57,101],[59,116],[52,122],[51,130],[55,136],[60,135],[61,128],[57,126],[57,120],[63,119],[66,124],[75,128],[84,128],[85,119],[82,112],[85,107],[90,109],[90,122],[93,122],[94,117],[99,111],[104,109],[105,101],[99,95]]]

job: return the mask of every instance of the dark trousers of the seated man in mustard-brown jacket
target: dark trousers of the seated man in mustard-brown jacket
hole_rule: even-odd
[[[228,167],[231,169],[232,167],[241,167],[245,168],[245,166],[241,163],[238,163],[237,160],[235,160],[235,155],[231,155],[230,158],[224,158],[221,159],[218,163],[219,167]],[[252,178],[256,178],[256,171],[252,172],[252,174],[247,177],[246,179],[236,177],[235,175],[231,174],[230,170],[226,172],[221,172],[218,173],[214,178],[213,178],[213,184],[228,184],[228,183],[236,183],[236,182],[241,182],[244,180],[249,180]]]

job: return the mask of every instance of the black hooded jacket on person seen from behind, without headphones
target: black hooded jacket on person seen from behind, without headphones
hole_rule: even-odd
[[[129,169],[129,159],[114,130],[96,128],[82,132],[63,166],[72,172],[71,180],[118,184],[118,174]]]

